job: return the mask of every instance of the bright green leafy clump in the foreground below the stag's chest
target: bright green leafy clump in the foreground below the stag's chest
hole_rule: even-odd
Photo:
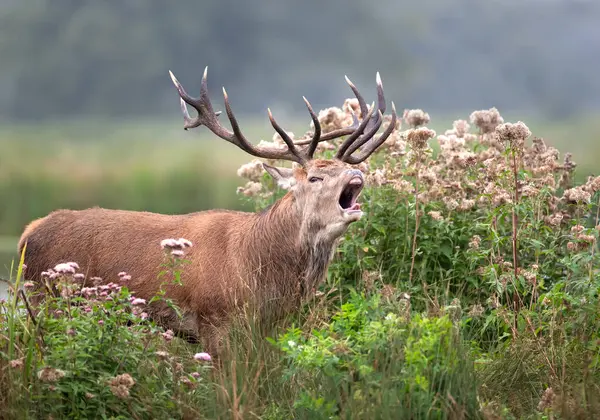
[[[458,330],[447,316],[410,316],[401,303],[352,293],[326,328],[294,328],[278,337],[285,375],[299,390],[294,408],[300,417],[477,415]]]

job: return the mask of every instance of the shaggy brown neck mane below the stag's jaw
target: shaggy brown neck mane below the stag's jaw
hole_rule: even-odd
[[[325,276],[335,241],[311,229],[292,193],[287,193],[269,209],[256,214],[246,244],[260,282],[283,282],[285,294],[312,292]]]

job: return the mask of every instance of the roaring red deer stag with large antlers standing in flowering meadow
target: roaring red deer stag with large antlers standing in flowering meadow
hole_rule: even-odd
[[[352,165],[364,161],[389,137],[396,125],[396,111],[392,103],[390,124],[376,137],[386,107],[379,74],[378,106],[373,104],[370,109],[346,78],[358,100],[362,121],[354,116],[350,127],[323,134],[304,98],[314,123],[312,136],[295,143],[269,110],[270,122],[286,147],[259,147],[242,134],[224,89],[225,110],[233,131],[221,125],[217,118],[220,112],[213,110],[208,96],[206,70],[199,98],[188,95],[170,75],[179,92],[185,130],[204,125],[250,155],[296,162],[296,169],[264,164],[275,180],[291,185],[289,192],[259,213],[210,210],[162,215],[102,208],[57,210],[31,222],[18,247],[21,252],[27,243],[25,263],[31,280],[39,281],[42,271],[57,263],[74,261],[87,278],[100,277],[106,283],[126,271],[131,276],[129,289],[137,297],[150,299],[163,281],[157,278],[165,258],[161,241],[190,240],[193,246],[186,255],[190,263],[182,269],[183,285],[166,287],[167,297],[177,303],[183,317],[176,317],[159,302],[147,311],[163,326],[188,339],[201,339],[214,349],[236,308],[253,305],[259,310],[259,319],[269,319],[270,324],[296,308],[323,280],[337,240],[362,215],[356,200],[364,176]],[[196,109],[197,117],[190,117],[186,104]],[[319,142],[345,136],[334,159],[313,159]]]

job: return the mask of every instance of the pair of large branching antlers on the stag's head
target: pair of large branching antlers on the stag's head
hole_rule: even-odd
[[[321,135],[321,125],[319,123],[319,119],[313,111],[310,102],[308,102],[308,100],[303,97],[304,102],[306,103],[306,107],[308,108],[308,112],[315,126],[315,131],[313,133],[312,139],[310,139],[309,141],[300,141],[294,143],[294,141],[290,138],[290,136],[288,136],[285,130],[283,130],[279,126],[279,124],[277,124],[275,118],[273,118],[271,110],[267,109],[271,125],[273,126],[275,131],[279,133],[282,140],[287,145],[287,148],[254,146],[242,134],[239,124],[235,118],[235,115],[231,110],[231,106],[229,105],[229,98],[227,96],[225,88],[223,88],[223,96],[225,99],[225,111],[227,113],[227,117],[229,118],[229,122],[231,123],[231,128],[233,132],[223,127],[223,125],[221,125],[221,123],[217,119],[221,112],[215,112],[213,110],[210,98],[208,97],[208,87],[206,81],[207,72],[208,67],[204,69],[204,75],[202,76],[202,83],[200,85],[200,97],[193,98],[190,95],[188,95],[188,93],[185,91],[181,83],[179,83],[175,75],[171,71],[169,71],[171,80],[173,81],[173,84],[179,92],[181,112],[183,113],[184,120],[184,130],[204,125],[223,140],[235,144],[240,149],[244,150],[246,153],[249,153],[256,157],[265,159],[289,160],[297,162],[301,165],[305,165],[309,160],[313,158],[313,155],[315,153],[315,150],[317,149],[317,145],[319,142],[333,140],[335,138],[343,136],[349,136],[338,150],[336,158],[344,162],[356,164],[365,160],[367,157],[369,157],[369,155],[371,155],[375,151],[375,149],[377,149],[381,144],[383,144],[387,137],[392,133],[396,124],[396,109],[394,107],[394,104],[392,103],[393,111],[392,121],[390,125],[377,140],[368,143],[370,140],[372,140],[377,130],[379,130],[383,121],[383,113],[385,112],[385,98],[383,95],[383,86],[381,84],[381,78],[379,77],[379,73],[377,73],[378,110],[377,114],[373,115],[375,104],[373,103],[371,105],[371,110],[367,112],[368,107],[363,97],[358,92],[358,89],[356,89],[352,82],[350,82],[350,80],[346,77],[346,81],[348,82],[350,88],[354,92],[354,95],[358,99],[361,113],[363,115],[363,121],[360,124],[358,123],[358,119],[356,118],[356,116],[352,114],[353,124],[350,127],[342,128]],[[191,105],[198,112],[198,116],[192,118],[188,113],[186,104]],[[303,150],[300,150],[297,147],[306,144],[308,144],[308,147]],[[354,153],[358,148],[364,146],[365,144],[365,148],[359,153],[358,156],[351,156],[352,153]]]

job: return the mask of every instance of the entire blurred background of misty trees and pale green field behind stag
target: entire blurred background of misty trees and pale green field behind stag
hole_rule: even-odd
[[[0,0],[0,277],[57,208],[244,208],[249,157],[182,129],[168,70],[196,95],[208,66],[213,104],[226,86],[255,142],[267,107],[302,134],[303,95],[341,106],[348,75],[370,102],[380,71],[436,130],[495,106],[594,173],[598,22],[594,0]]]

